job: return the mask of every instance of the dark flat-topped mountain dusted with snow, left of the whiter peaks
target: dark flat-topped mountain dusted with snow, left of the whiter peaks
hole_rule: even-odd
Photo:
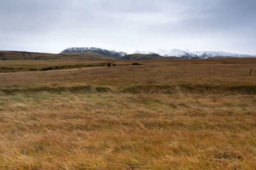
[[[125,52],[117,52],[115,50],[105,50],[105,49],[95,48],[95,47],[72,47],[72,48],[67,48],[61,53],[83,53],[83,52],[99,53],[106,57],[115,57],[115,58],[121,58],[124,55],[127,55],[127,53]]]

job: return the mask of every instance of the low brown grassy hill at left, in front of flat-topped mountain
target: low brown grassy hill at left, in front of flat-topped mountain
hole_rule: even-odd
[[[0,51],[0,60],[113,60],[99,53],[37,53]]]

